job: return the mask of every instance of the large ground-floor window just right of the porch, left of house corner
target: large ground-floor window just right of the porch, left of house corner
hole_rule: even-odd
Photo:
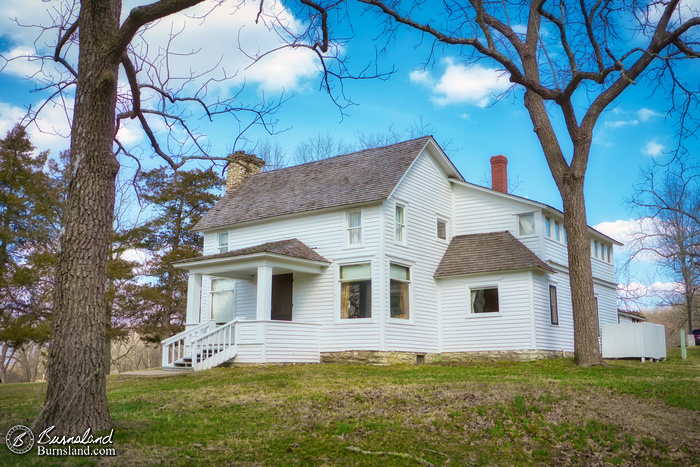
[[[340,267],[340,318],[372,317],[372,266],[370,263]]]

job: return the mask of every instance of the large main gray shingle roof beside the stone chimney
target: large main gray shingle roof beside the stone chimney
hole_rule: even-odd
[[[194,230],[386,199],[430,136],[253,175]]]

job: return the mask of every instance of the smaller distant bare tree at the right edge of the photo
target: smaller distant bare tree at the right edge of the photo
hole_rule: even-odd
[[[642,171],[635,193],[628,203],[642,220],[633,232],[631,259],[652,255],[677,281],[662,304],[685,309],[690,332],[700,308],[700,165],[680,154],[667,163],[654,161]]]

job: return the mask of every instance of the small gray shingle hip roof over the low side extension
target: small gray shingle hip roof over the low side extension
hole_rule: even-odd
[[[459,235],[447,247],[435,277],[529,268],[555,272],[510,232]]]

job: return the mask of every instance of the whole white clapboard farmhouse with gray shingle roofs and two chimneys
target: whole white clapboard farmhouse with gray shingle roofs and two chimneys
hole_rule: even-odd
[[[532,359],[574,345],[563,214],[464,181],[432,137],[261,172],[237,153],[197,224],[186,330],[164,368]],[[613,245],[590,228],[600,324],[617,323]]]

